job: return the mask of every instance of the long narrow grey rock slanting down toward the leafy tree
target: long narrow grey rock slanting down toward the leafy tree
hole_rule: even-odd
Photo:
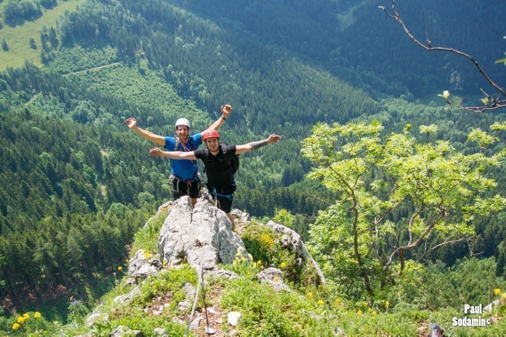
[[[301,236],[296,231],[293,231],[283,225],[276,224],[272,220],[267,223],[267,226],[274,229],[276,233],[282,235],[282,246],[289,249],[295,255],[295,259],[299,264],[302,264],[304,260],[307,264],[311,265],[315,269],[320,283],[325,285],[325,276],[323,275],[320,266],[318,266],[318,263],[311,257],[311,255],[309,255],[306,245],[302,242]]]

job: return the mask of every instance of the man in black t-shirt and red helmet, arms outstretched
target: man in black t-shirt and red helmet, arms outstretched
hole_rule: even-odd
[[[258,142],[244,145],[226,145],[220,144],[220,135],[216,130],[206,130],[202,139],[207,146],[206,149],[191,152],[168,152],[154,148],[149,150],[149,153],[153,156],[172,159],[201,159],[205,165],[207,189],[213,198],[218,201],[219,208],[227,214],[232,223],[232,229],[234,229],[234,218],[230,214],[235,191],[234,173],[237,170],[237,167],[234,167],[234,162],[237,162],[234,161],[234,156],[259,149],[267,144],[277,143],[281,140],[281,136],[273,134],[269,138]]]

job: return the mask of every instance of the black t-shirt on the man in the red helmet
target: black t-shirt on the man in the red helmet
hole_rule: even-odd
[[[235,145],[220,144],[216,156],[212,155],[209,149],[198,149],[193,152],[195,157],[204,162],[207,183],[210,186],[225,189],[234,185],[231,165],[235,150]]]

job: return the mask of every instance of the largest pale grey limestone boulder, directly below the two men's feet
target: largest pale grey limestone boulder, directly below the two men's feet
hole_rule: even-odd
[[[187,261],[197,271],[214,270],[218,263],[232,263],[244,244],[232,232],[232,224],[221,210],[206,201],[191,207],[188,196],[174,203],[158,238],[158,251],[167,266]]]

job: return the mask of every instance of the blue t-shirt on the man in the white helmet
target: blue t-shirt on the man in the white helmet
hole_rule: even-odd
[[[165,138],[165,149],[167,151],[174,151],[174,146],[176,146],[176,139],[174,137],[164,137]],[[195,151],[198,146],[202,144],[202,136],[200,134],[195,134],[188,138],[188,142],[186,144],[179,142],[179,151],[183,152],[191,152]],[[198,172],[198,162],[197,160],[190,159],[170,159],[172,174],[176,177],[179,177],[183,180],[189,180],[195,177]]]

